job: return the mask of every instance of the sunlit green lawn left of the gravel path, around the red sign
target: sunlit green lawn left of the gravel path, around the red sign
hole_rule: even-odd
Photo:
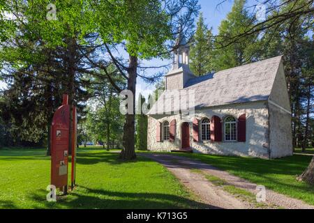
[[[202,208],[160,164],[138,157],[79,151],[77,190],[57,203],[45,201],[50,157],[43,149],[0,150],[0,208]]]

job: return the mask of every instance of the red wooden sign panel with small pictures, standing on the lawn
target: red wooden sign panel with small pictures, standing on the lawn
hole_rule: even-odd
[[[66,193],[68,185],[68,148],[70,130],[68,95],[54,113],[51,126],[51,184]]]

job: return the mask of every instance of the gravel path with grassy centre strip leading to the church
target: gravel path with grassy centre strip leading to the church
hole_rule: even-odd
[[[139,153],[139,155],[156,160],[163,164],[169,171],[174,174],[181,183],[188,187],[192,192],[197,194],[204,203],[217,208],[232,208],[246,209],[254,208],[253,205],[246,201],[240,201],[231,194],[223,191],[216,185],[209,182],[202,174],[197,174],[191,169],[200,169],[206,174],[216,176],[227,181],[228,185],[234,185],[249,192],[257,193],[255,190],[257,185],[250,183],[247,180],[233,176],[226,171],[221,171],[209,164],[204,164],[200,161],[181,157],[177,155],[165,155],[158,153]],[[314,206],[304,203],[298,199],[287,197],[283,194],[278,194],[272,190],[267,190],[266,203],[269,206],[278,206],[286,209],[314,209]]]

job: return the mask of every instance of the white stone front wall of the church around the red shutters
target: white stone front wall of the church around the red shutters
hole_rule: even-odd
[[[241,114],[246,114],[246,142],[211,142],[193,141],[192,121],[193,118],[202,119],[204,117],[219,116],[221,119],[232,115],[239,118]],[[156,122],[172,121],[176,118],[177,128],[174,142],[156,142]],[[195,111],[195,116],[188,116],[190,123],[190,147],[195,153],[209,153],[219,155],[243,155],[253,157],[269,157],[269,110],[267,102],[247,102],[243,104],[225,105],[213,107],[211,109],[201,109]],[[177,115],[154,115],[149,116],[148,127],[148,149],[149,151],[171,151],[181,148],[181,124],[184,123],[179,114]],[[269,138],[269,137],[268,137]]]

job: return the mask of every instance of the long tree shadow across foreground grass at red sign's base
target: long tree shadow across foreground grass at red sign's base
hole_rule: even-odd
[[[67,197],[56,202],[45,201],[45,190],[38,190],[30,199],[40,202],[41,206],[32,208],[70,208],[70,209],[181,209],[181,208],[207,208],[218,209],[179,197],[172,194],[160,193],[130,193],[112,192],[100,189],[81,187],[80,191],[73,191]],[[82,193],[84,191],[84,193]]]

